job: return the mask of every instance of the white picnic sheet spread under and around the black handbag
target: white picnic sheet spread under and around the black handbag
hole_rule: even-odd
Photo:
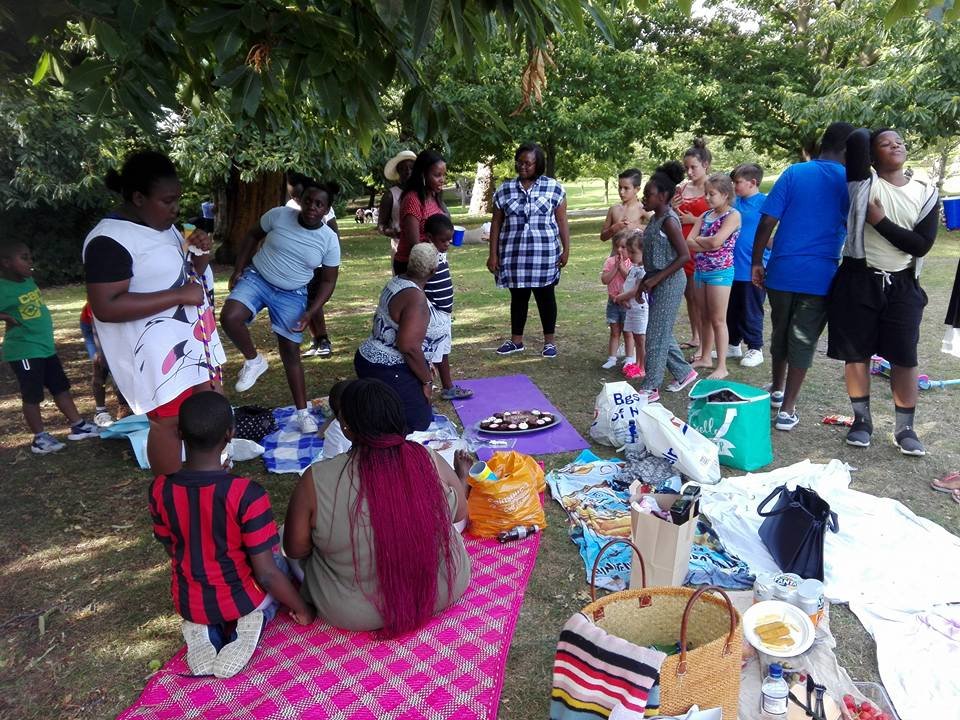
[[[960,717],[960,539],[902,503],[851,490],[839,460],[805,460],[704,486],[701,511],[754,572],[778,568],[760,540],[757,506],[778,485],[813,488],[837,513],[824,586],[849,603],[877,643],[880,676],[901,720]]]

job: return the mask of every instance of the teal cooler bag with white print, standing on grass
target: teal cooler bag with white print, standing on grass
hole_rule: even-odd
[[[770,393],[729,380],[700,380],[690,389],[687,423],[719,451],[720,464],[756,470],[773,462]]]

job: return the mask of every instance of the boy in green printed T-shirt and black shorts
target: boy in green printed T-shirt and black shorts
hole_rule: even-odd
[[[62,450],[64,445],[43,430],[40,402],[43,388],[53,395],[67,420],[68,440],[97,437],[97,427],[80,417],[70,395],[70,381],[53,346],[53,320],[33,280],[33,258],[22,242],[0,247],[0,321],[7,325],[3,359],[20,383],[23,417],[34,434],[30,450],[38,455]]]

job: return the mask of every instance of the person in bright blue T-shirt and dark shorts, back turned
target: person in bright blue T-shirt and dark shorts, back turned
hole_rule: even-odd
[[[846,239],[849,200],[843,163],[851,132],[850,123],[832,123],[820,140],[820,156],[788,167],[760,210],[752,279],[757,287],[766,287],[770,298],[770,404],[779,408],[777,430],[792,430],[800,422],[800,387],[827,324],[827,292]]]

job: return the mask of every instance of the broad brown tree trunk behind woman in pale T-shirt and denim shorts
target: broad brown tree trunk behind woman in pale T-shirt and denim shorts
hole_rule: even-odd
[[[215,239],[220,247],[216,261],[233,263],[240,243],[250,228],[260,222],[260,216],[285,201],[283,173],[263,173],[252,182],[244,182],[240,179],[240,170],[234,166],[226,186],[217,192]]]

